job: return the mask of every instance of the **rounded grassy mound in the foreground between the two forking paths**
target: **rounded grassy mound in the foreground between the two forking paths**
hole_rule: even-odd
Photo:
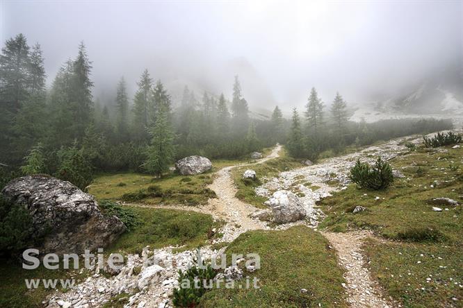
[[[200,307],[347,307],[341,286],[343,271],[334,250],[318,232],[305,226],[257,230],[241,234],[226,250],[257,253],[261,268],[247,273],[259,278],[260,289],[213,289]],[[227,261],[230,264],[231,261]],[[243,286],[245,280],[243,280]],[[301,289],[307,289],[302,293]]]

